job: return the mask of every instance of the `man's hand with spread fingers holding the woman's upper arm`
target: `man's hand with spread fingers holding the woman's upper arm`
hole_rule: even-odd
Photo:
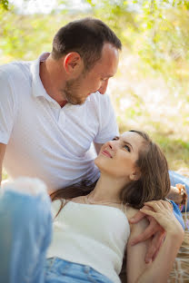
[[[144,206],[144,210],[152,210],[147,205]],[[170,205],[170,210],[172,210]],[[138,221],[142,220],[146,215],[138,211],[132,219],[129,220],[130,223],[134,224]],[[152,242],[146,252],[145,255],[145,262],[148,263],[151,260],[154,260],[155,256],[157,255],[158,250],[160,249],[162,242],[165,237],[165,231],[164,229],[157,223],[156,220],[152,216],[146,217],[149,220],[149,226],[144,230],[144,232],[132,240],[131,244],[136,245],[137,243],[144,241],[146,239],[152,238]]]

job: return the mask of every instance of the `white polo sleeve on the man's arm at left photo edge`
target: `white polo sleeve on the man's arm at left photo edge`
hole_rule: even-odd
[[[15,97],[11,80],[0,69],[0,142],[7,144],[15,120]]]

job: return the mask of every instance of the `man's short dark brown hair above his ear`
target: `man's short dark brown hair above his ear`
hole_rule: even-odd
[[[87,17],[59,29],[53,41],[52,57],[58,60],[65,54],[77,52],[88,71],[101,58],[105,43],[122,49],[121,41],[109,26],[98,19]]]

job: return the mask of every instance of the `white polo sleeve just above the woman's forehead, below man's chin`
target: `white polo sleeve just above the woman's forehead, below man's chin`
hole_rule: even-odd
[[[114,136],[119,135],[116,123],[114,108],[108,94],[100,94],[99,103],[99,131],[94,139],[96,143],[104,143],[110,141]]]

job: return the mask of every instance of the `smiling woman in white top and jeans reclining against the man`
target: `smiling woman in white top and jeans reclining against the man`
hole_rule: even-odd
[[[184,230],[169,203],[160,200],[170,188],[164,154],[144,132],[125,132],[104,144],[95,164],[101,177],[90,193],[82,190],[83,196],[73,198],[76,190],[68,188],[53,195],[54,239],[46,266],[51,234],[47,196],[36,194],[33,184],[29,184],[33,196],[28,196],[22,192],[25,184],[19,182],[5,191],[0,203],[1,281],[120,282],[124,251],[127,282],[167,281]],[[131,244],[146,227],[146,220],[133,226],[128,222],[144,203],[153,211],[141,211],[166,231],[158,255],[148,264],[144,254],[149,241]]]

